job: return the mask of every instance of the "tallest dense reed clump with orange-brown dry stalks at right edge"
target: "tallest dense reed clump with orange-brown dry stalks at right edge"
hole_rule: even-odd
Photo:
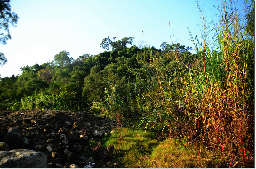
[[[253,10],[253,3],[246,5]],[[182,111],[193,124],[186,132],[195,143],[219,150],[223,162],[227,154],[236,153],[246,163],[253,159],[254,149],[254,41],[245,32],[246,18],[236,2],[222,1],[216,8],[220,20],[213,28],[202,15],[201,40],[190,33],[201,71],[196,75],[184,70],[175,55],[182,79]],[[198,9],[203,13],[199,5]],[[208,37],[208,31],[214,36]]]

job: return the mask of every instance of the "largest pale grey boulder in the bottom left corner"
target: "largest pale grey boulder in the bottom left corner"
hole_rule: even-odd
[[[46,168],[47,156],[28,149],[0,151],[0,168]]]

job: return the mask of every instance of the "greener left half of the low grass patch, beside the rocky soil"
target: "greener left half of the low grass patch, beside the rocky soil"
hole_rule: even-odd
[[[144,157],[149,156],[158,145],[155,134],[130,128],[121,128],[113,133],[105,145],[114,145],[113,157],[120,167],[140,168],[144,166]]]

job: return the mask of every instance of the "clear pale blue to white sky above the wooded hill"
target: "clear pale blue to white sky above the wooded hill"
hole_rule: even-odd
[[[213,16],[217,0],[201,2]],[[21,74],[20,67],[52,61],[62,50],[74,59],[84,53],[97,55],[104,51],[100,43],[108,36],[134,36],[135,45],[145,42],[157,49],[162,42],[171,44],[171,36],[194,49],[188,28],[194,35],[201,23],[194,0],[12,0],[10,4],[19,20],[17,27],[10,27],[12,39],[0,45],[8,59],[0,67],[2,78]]]

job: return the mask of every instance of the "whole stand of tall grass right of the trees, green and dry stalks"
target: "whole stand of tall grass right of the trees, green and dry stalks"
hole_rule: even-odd
[[[239,2],[213,6],[219,21],[210,25],[197,3],[203,28],[200,36],[190,33],[199,55],[194,64],[172,51],[177,65],[170,70],[152,55],[154,74],[147,76],[145,98],[151,110],[144,109],[139,120],[139,126],[160,128],[163,138],[164,130],[169,137],[183,136],[198,154],[200,145],[207,147],[221,155],[220,166],[230,167],[254,161],[254,35],[245,31],[254,2],[245,2],[244,10]]]

